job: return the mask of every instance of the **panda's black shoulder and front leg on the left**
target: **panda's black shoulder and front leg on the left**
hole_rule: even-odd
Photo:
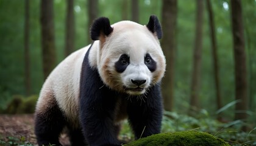
[[[116,93],[104,86],[98,70],[89,65],[88,54],[80,78],[80,122],[85,139],[93,145],[120,145],[115,131]]]

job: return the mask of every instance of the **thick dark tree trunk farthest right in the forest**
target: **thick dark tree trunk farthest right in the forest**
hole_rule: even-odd
[[[247,70],[244,44],[244,26],[240,0],[231,1],[233,50],[235,58],[235,120],[246,120],[247,110]],[[246,127],[243,127],[246,131]]]

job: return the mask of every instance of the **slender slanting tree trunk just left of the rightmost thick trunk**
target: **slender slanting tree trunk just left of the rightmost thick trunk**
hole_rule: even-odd
[[[213,54],[213,71],[215,78],[215,89],[216,89],[216,105],[217,109],[222,107],[221,103],[221,91],[219,87],[219,63],[218,63],[218,54],[217,54],[217,43],[216,43],[216,35],[215,35],[215,22],[212,10],[212,4],[210,0],[207,0],[207,10],[208,10],[208,18],[210,23],[210,38],[212,41],[212,54]],[[218,119],[221,120],[221,117],[218,116]]]

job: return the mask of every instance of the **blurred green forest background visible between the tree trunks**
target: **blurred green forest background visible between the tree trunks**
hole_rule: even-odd
[[[149,16],[157,15],[162,19],[162,1],[140,0],[139,22],[147,24]],[[218,43],[219,74],[222,105],[235,100],[234,58],[232,28],[230,20],[230,1],[212,0],[215,14],[216,38]],[[248,72],[248,111],[249,122],[256,122],[256,1],[242,1],[243,23],[246,41],[246,58]],[[121,0],[99,0],[98,16],[106,16],[111,23],[123,20],[124,5]],[[131,19],[131,4],[127,3],[127,19]],[[203,47],[200,105],[208,113],[216,113],[215,86],[213,78],[212,50],[210,29],[206,7],[204,7]],[[40,1],[30,1],[30,75],[31,95],[25,94],[24,81],[24,1],[0,0],[0,108],[6,109],[13,97],[25,99],[37,96],[43,85],[41,32],[40,32]],[[54,0],[55,49],[57,62],[65,58],[65,15],[66,1]],[[90,44],[88,42],[88,2],[74,1],[75,15],[75,48]],[[196,24],[196,2],[178,1],[177,10],[177,49],[174,69],[174,111],[187,113],[190,98],[191,70],[193,64],[193,46]],[[165,32],[163,32],[165,37]],[[168,63],[167,63],[168,64]],[[233,119],[234,105],[223,111],[227,120]]]

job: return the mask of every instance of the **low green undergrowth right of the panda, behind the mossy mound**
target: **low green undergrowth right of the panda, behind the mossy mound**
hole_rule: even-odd
[[[205,109],[202,109],[196,117],[165,111],[162,133],[196,130],[213,134],[229,142],[230,145],[253,145],[256,143],[256,128],[252,128],[249,133],[246,133],[240,130],[243,125],[246,125],[242,120],[222,123],[214,118]]]

